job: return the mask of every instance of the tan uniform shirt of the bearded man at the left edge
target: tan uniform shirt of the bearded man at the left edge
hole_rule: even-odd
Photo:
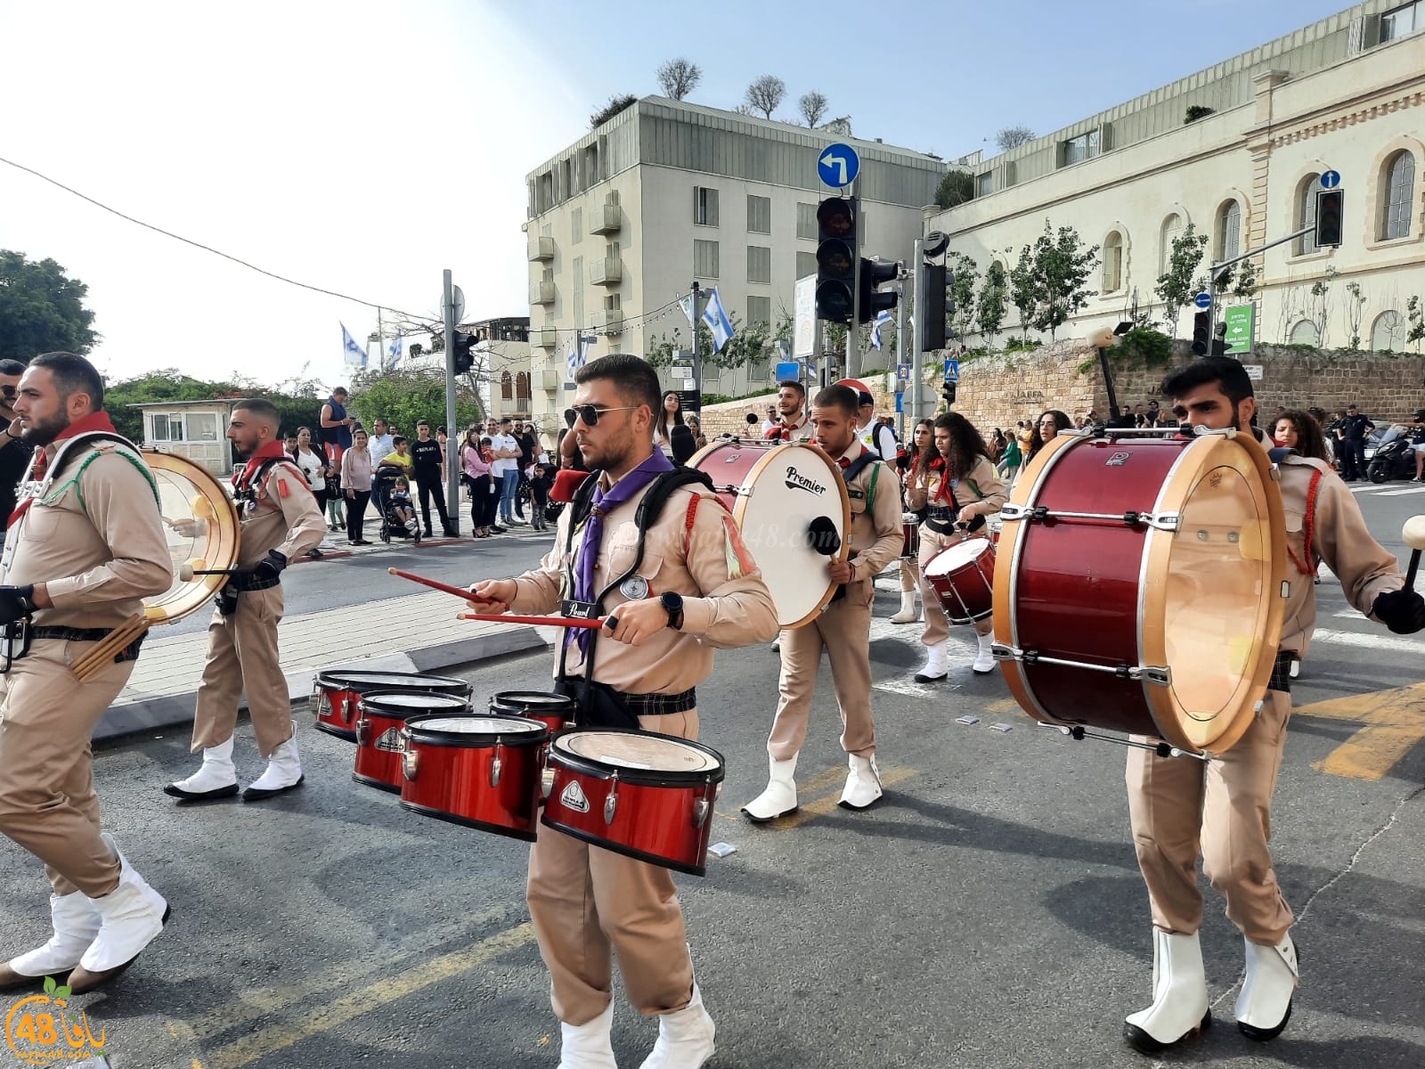
[[[51,460],[58,445],[46,446]],[[117,627],[144,610],[142,599],[172,586],[151,477],[142,459],[117,442],[71,452],[10,527],[4,582],[46,583],[54,601],[34,613],[36,626]]]

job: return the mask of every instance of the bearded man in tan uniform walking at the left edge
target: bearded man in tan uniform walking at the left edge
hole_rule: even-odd
[[[10,430],[43,453],[0,557],[0,832],[44,862],[54,932],[0,965],[0,989],[68,976],[77,995],[125,969],[168,904],[100,831],[90,737],[142,639],[86,680],[94,643],[172,584],[154,476],[104,412],[104,383],[71,352],[36,356]],[[27,631],[27,634],[26,634]]]

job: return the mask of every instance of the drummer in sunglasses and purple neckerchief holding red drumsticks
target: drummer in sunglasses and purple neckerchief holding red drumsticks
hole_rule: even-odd
[[[674,466],[653,445],[657,372],[614,353],[580,368],[574,382],[570,433],[598,469],[590,476],[597,489],[589,519],[571,530],[577,500],[566,506],[540,567],[472,587],[494,601],[479,603],[477,611],[547,613],[571,599],[566,613],[617,617],[613,630],[570,629],[557,654],[560,674],[567,670],[570,683],[583,684],[576,694],[587,693],[581,723],[695,738],[694,687],[711,671],[712,650],[770,641],[777,633],[771,594],[711,493],[678,486],[638,530],[634,517],[650,492],[697,476],[688,469],[668,476]],[[667,482],[656,482],[660,476]],[[640,539],[643,563],[618,582]],[[697,1069],[711,1058],[715,1029],[693,978],[668,869],[542,824],[530,848],[527,898],[560,1019],[560,1069],[614,1066],[610,951],[628,999],[658,1016],[658,1040],[643,1069]]]

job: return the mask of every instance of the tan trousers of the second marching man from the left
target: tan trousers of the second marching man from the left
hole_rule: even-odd
[[[281,619],[281,586],[244,590],[232,616],[214,610],[208,624],[208,663],[202,666],[192,718],[194,753],[232,738],[244,690],[262,757],[271,757],[292,737],[292,701],[276,651]]]

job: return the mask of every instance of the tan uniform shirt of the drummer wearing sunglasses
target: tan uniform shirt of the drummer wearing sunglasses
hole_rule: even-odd
[[[895,492],[889,495],[895,499]],[[688,527],[688,507],[698,497]],[[627,572],[638,546],[634,513],[643,495],[617,506],[604,519],[603,544],[594,566],[594,590]],[[899,507],[896,510],[899,516]],[[510,611],[557,613],[563,594],[564,544],[573,509],[559,517],[554,549],[540,567],[516,579],[519,593]],[[574,533],[573,559],[581,534]],[[680,694],[712,671],[712,650],[767,643],[777,637],[777,609],[762,572],[742,543],[737,525],[717,497],[678,489],[644,542],[638,576],[648,597],[683,594],[683,629],[664,629],[641,646],[617,643],[607,634],[594,643],[593,678],[626,694]],[[617,616],[628,597],[617,587],[604,597],[604,613]],[[563,636],[560,636],[563,641]],[[569,676],[587,676],[579,646],[569,647]]]

